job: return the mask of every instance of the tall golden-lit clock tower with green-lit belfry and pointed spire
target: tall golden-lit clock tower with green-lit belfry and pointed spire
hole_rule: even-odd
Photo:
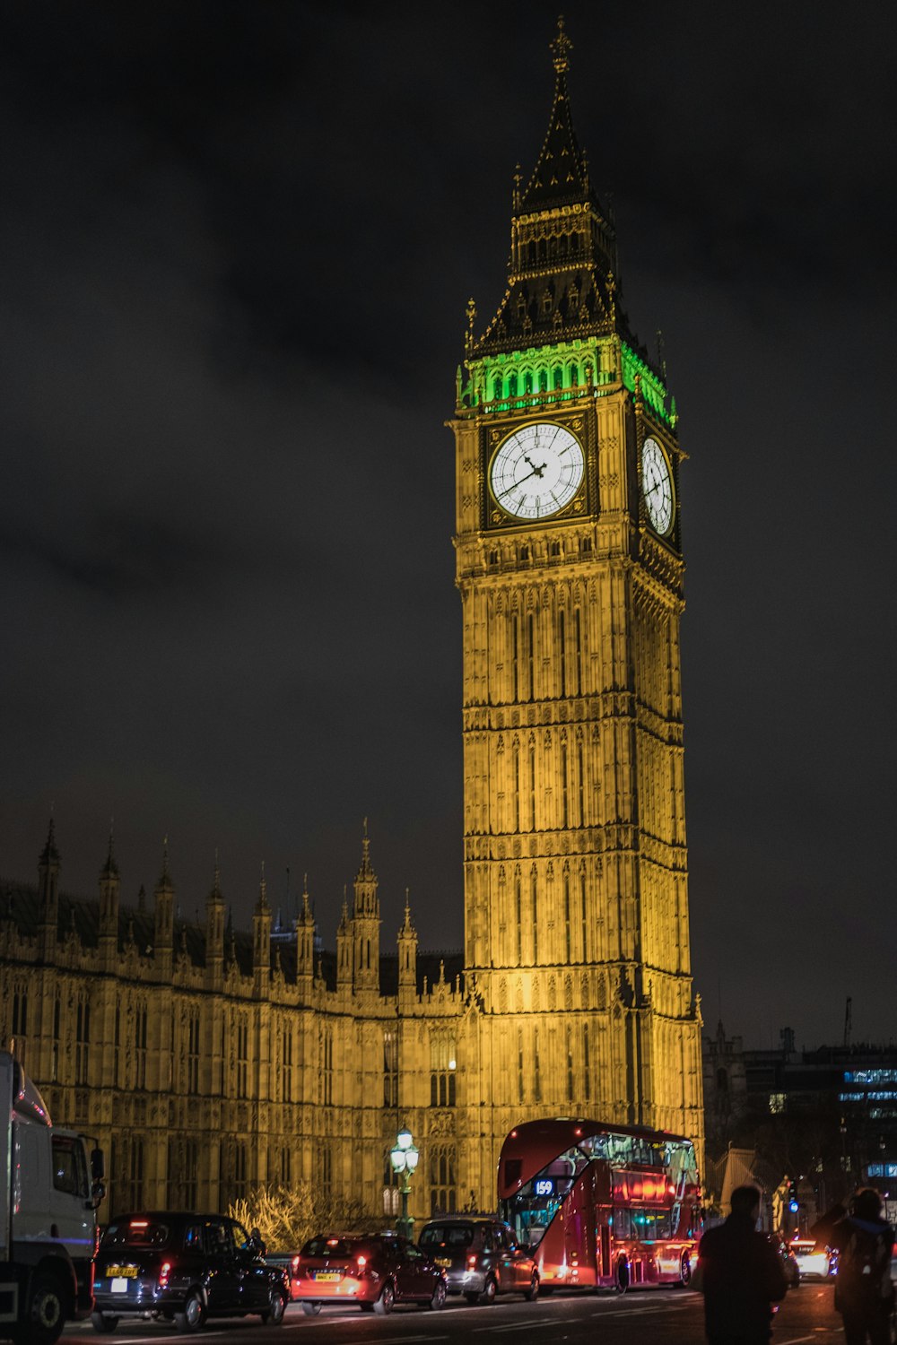
[[[568,95],[469,307],[457,448],[465,966],[480,1134],[588,1115],[702,1135],[689,956],[675,404],[621,308]]]

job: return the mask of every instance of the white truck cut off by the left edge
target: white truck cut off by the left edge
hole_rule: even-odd
[[[102,1151],[59,1130],[38,1088],[0,1050],[0,1340],[54,1345],[90,1314]]]

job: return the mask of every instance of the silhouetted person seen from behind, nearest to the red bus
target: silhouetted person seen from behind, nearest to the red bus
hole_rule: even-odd
[[[772,1305],[788,1283],[775,1248],[757,1232],[758,1219],[758,1189],[737,1186],[725,1224],[701,1239],[698,1282],[710,1345],[767,1345],[772,1336]]]

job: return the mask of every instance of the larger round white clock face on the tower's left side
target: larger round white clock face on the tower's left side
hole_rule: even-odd
[[[550,518],[582,484],[585,460],[578,438],[562,425],[526,425],[492,459],[492,498],[514,518]]]

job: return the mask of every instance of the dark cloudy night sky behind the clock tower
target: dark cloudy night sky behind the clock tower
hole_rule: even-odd
[[[894,1015],[894,8],[566,5],[679,430],[695,989]],[[551,106],[546,4],[20,0],[0,20],[0,873],[460,948],[455,370]],[[289,874],[288,874],[289,870]]]

